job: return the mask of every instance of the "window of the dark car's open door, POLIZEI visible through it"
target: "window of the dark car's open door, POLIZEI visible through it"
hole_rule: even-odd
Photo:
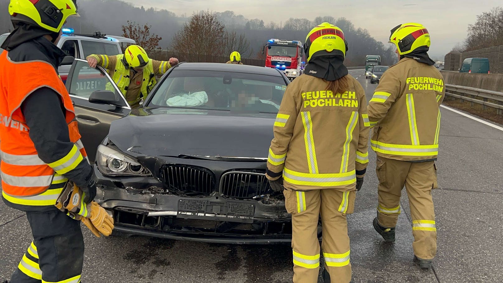
[[[87,61],[76,60],[70,75],[70,95],[89,99],[94,91],[116,91],[105,73],[100,69],[91,68]]]

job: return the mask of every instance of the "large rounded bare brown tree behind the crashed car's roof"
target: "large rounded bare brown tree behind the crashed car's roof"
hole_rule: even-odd
[[[174,51],[192,54],[221,55],[224,46],[224,25],[209,11],[194,13],[172,40]]]

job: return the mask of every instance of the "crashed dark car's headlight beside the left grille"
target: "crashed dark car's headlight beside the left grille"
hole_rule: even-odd
[[[120,151],[104,145],[98,146],[96,153],[96,163],[101,173],[108,176],[130,175],[130,176],[150,176],[152,173],[134,157],[121,153]]]

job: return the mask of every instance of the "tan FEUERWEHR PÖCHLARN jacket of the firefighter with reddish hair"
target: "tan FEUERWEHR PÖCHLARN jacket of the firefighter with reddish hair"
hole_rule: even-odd
[[[298,190],[353,190],[368,164],[369,122],[365,92],[349,76],[343,94],[326,81],[301,75],[288,85],[274,123],[268,178]]]

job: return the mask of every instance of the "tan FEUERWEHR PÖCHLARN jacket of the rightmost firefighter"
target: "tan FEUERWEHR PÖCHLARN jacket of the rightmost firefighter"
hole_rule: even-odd
[[[444,78],[434,66],[401,59],[381,78],[368,106],[377,155],[403,161],[435,160]]]

